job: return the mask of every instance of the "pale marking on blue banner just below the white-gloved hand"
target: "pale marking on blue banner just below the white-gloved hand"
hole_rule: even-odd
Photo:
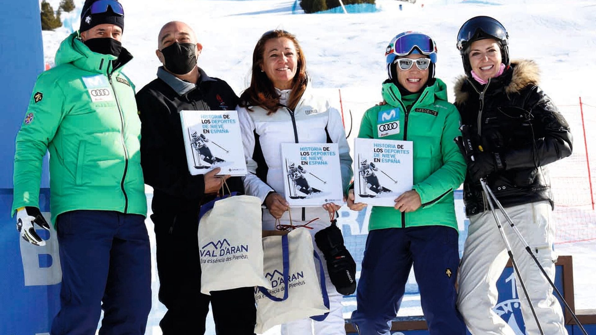
[[[42,215],[50,222],[49,212],[42,212]],[[22,238],[19,239],[25,286],[54,285],[62,281],[57,233],[54,225],[50,224],[49,227],[49,239],[45,241],[44,247],[33,246]],[[48,258],[48,267],[40,266],[40,256]]]

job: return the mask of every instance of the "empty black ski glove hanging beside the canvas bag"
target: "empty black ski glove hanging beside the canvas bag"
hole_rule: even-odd
[[[343,244],[342,231],[336,220],[315,234],[316,246],[327,261],[327,271],[337,292],[347,296],[356,291],[356,262]]]

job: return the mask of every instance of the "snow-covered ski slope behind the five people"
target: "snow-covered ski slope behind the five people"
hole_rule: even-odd
[[[49,2],[57,9],[59,0]],[[77,10],[82,2],[75,0]],[[405,30],[433,36],[438,48],[436,76],[448,85],[452,101],[452,83],[463,71],[455,48],[458,29],[475,15],[497,18],[507,27],[511,58],[531,58],[538,63],[542,70],[542,88],[572,125],[575,147],[569,160],[578,162],[577,167],[572,169],[569,164],[555,163],[551,176],[555,191],[565,197],[574,197],[577,193],[578,199],[581,198],[579,203],[585,206],[570,211],[569,215],[563,212],[563,216],[557,216],[557,222],[564,221],[566,227],[573,227],[574,222],[581,219],[588,241],[578,241],[582,239],[579,237],[564,238],[556,248],[560,255],[573,256],[576,309],[596,308],[596,289],[591,284],[592,274],[596,272],[596,216],[589,202],[585,203],[588,179],[577,106],[579,97],[584,103],[596,106],[592,83],[596,75],[595,1],[418,0],[417,4],[408,4],[377,0],[380,9],[377,13],[347,15],[292,14],[293,0],[121,2],[126,13],[123,46],[135,57],[125,72],[137,89],[156,77],[157,67],[161,65],[155,55],[157,34],[167,21],[185,21],[194,28],[198,41],[203,44],[199,66],[210,76],[226,80],[237,94],[249,83],[256,41],[267,30],[281,28],[299,39],[315,88],[327,89],[324,92],[334,99],[337,88],[342,88],[346,128],[350,127],[348,107],[353,113],[352,138],[358,133],[365,109],[381,99],[380,83],[386,78],[384,51],[393,36]],[[400,4],[402,11],[398,9]],[[62,17],[74,22],[78,19],[76,13],[63,13]],[[73,26],[76,29],[78,23]],[[69,33],[66,27],[44,32],[45,60],[50,65],[60,42]],[[584,113],[586,125],[592,126],[586,128],[586,135],[592,180],[596,181],[596,107],[585,107]],[[353,143],[351,138],[349,143]],[[555,196],[559,197],[558,193]],[[415,297],[405,297],[399,315],[421,314],[416,301]],[[156,320],[150,321],[157,324]],[[148,328],[148,333],[150,330]]]

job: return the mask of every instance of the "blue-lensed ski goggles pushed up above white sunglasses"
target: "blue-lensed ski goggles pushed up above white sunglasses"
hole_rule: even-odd
[[[395,36],[385,50],[387,64],[393,63],[396,57],[406,56],[417,51],[430,57],[430,61],[437,61],[437,46],[430,36],[417,32],[405,32]]]

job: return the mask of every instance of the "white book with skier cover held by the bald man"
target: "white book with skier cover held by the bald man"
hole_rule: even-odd
[[[191,175],[204,175],[215,168],[221,168],[218,175],[246,175],[237,111],[183,110],[180,119]]]

